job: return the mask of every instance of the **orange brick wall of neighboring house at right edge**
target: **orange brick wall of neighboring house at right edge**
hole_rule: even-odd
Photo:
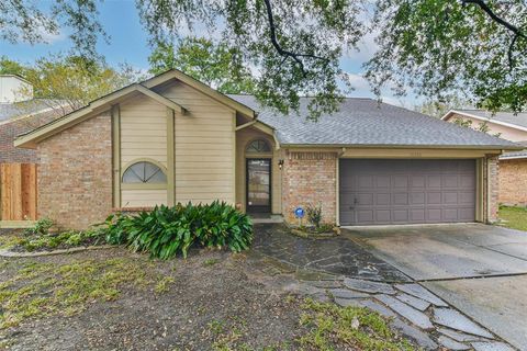
[[[527,205],[527,159],[500,160],[500,203]]]

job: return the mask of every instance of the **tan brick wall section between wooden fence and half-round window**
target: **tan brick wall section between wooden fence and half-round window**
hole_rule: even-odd
[[[38,217],[83,229],[112,210],[111,117],[87,120],[38,144]]]

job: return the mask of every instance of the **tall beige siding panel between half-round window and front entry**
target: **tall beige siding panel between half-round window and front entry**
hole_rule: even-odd
[[[179,82],[157,91],[188,110],[175,123],[176,202],[234,203],[234,111]]]

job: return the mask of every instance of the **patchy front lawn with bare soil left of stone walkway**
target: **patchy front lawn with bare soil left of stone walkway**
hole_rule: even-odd
[[[291,295],[262,264],[212,250],[0,258],[0,350],[416,350],[377,313]]]

